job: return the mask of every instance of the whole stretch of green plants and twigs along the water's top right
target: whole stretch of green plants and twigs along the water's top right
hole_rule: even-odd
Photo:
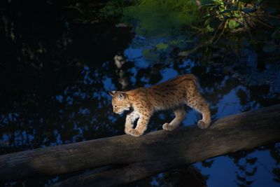
[[[276,53],[279,29],[267,32],[273,41],[261,39],[264,34],[252,36],[250,32],[260,25],[279,27],[278,9],[271,5],[262,7],[262,0],[201,0],[200,6],[195,0],[117,0],[106,3],[101,12],[106,18],[120,18],[136,34],[144,36],[150,44],[143,51],[144,57],[155,62],[174,47],[185,50],[179,53],[182,56],[204,49],[208,59],[215,48],[236,52],[241,46],[260,43],[262,52]],[[242,37],[238,35],[241,32],[250,35]]]

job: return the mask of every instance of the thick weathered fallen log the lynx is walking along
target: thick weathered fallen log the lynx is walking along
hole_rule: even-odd
[[[68,179],[76,186],[112,186],[277,141],[280,141],[280,104],[218,119],[207,130],[193,125],[141,137],[121,135],[0,155],[0,179],[14,181],[123,165]],[[71,186],[71,183],[66,180],[55,185]]]

